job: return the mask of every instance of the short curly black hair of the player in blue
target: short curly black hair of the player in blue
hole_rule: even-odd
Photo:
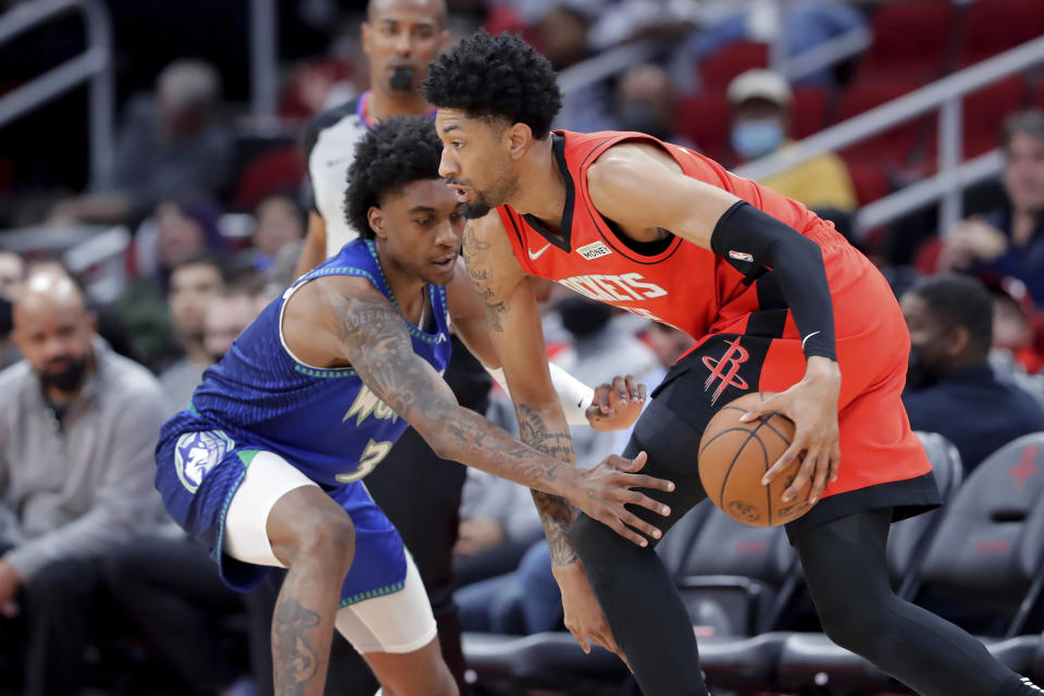
[[[442,157],[434,116],[395,116],[371,128],[356,146],[348,167],[348,224],[364,239],[373,239],[370,208],[407,184],[438,178]]]

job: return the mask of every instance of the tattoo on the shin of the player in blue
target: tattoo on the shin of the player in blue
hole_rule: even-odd
[[[296,599],[279,604],[272,617],[272,658],[276,696],[300,696],[319,674],[319,657],[312,647],[312,630],[319,613]]]

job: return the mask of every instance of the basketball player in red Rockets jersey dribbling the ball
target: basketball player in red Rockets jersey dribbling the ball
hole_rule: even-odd
[[[815,507],[787,533],[828,635],[919,694],[1040,694],[888,585],[890,524],[939,495],[899,400],[909,335],[865,257],[800,203],[685,148],[638,133],[549,133],[555,74],[518,37],[461,41],[423,89],[438,108],[439,173],[472,217],[465,260],[523,440],[571,459],[527,275],[681,328],[698,343],[654,391],[624,452],[647,450],[649,473],[678,484],[651,493],[671,507],[666,524],[707,497],[695,452],[714,411],[749,390],[779,391],[745,418],[774,410],[796,424],[766,480],[793,477],[792,499],[812,481],[795,514]],[[561,499],[534,497],[581,644],[625,657],[647,695],[707,694],[657,539],[631,544]]]

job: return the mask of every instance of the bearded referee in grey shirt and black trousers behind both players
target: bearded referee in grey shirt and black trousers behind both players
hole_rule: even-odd
[[[370,89],[358,99],[325,111],[306,135],[308,172],[314,204],[296,276],[334,257],[360,232],[344,214],[347,172],[356,144],[382,121],[431,110],[418,91],[427,64],[446,47],[443,0],[371,0],[362,24],[362,48],[370,59]],[[485,413],[490,381],[456,337],[446,381],[464,407]],[[403,488],[400,481],[414,485]],[[395,444],[366,487],[402,534],[414,555],[438,622],[443,656],[463,692],[464,658],[451,594],[452,549],[457,542],[464,469],[438,459],[412,428]],[[372,692],[376,682],[345,642],[334,646],[331,679],[339,693]]]

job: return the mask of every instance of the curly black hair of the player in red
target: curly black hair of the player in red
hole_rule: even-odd
[[[524,123],[538,139],[562,108],[551,64],[508,33],[494,38],[480,30],[460,41],[432,62],[421,91],[436,107]]]

